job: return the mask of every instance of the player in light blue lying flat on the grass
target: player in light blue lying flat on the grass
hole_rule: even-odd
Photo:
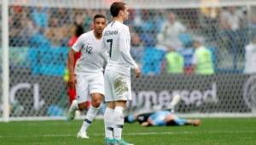
[[[125,117],[125,122],[138,122],[142,126],[169,126],[169,125],[194,125],[201,124],[200,119],[181,119],[170,111],[157,111],[155,113],[131,114]]]

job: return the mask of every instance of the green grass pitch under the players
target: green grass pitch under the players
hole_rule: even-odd
[[[141,127],[125,124],[123,137],[136,145],[255,145],[256,118],[202,119],[201,126]],[[103,121],[89,128],[90,139],[78,139],[82,120],[0,123],[2,145],[102,145]]]

